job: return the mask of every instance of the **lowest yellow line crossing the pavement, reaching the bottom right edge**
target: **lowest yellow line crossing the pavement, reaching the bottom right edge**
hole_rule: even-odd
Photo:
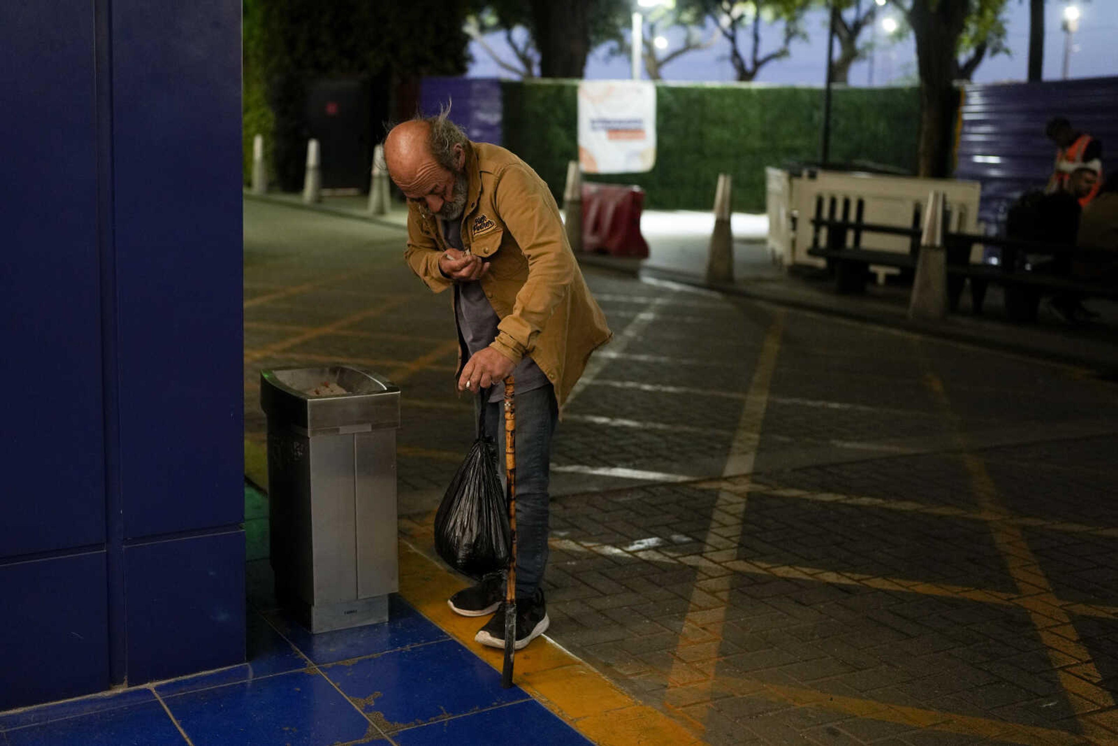
[[[802,689],[783,684],[720,677],[714,684],[719,690],[739,697],[760,697],[769,701],[795,707],[815,707],[846,712],[860,718],[908,725],[913,728],[975,736],[989,740],[1001,740],[1026,746],[1071,746],[1082,744],[1083,737],[1038,726],[1020,725],[1005,720],[955,715],[903,705],[890,705],[871,699],[859,699],[832,695],[813,689]],[[836,724],[842,728],[842,724]]]

